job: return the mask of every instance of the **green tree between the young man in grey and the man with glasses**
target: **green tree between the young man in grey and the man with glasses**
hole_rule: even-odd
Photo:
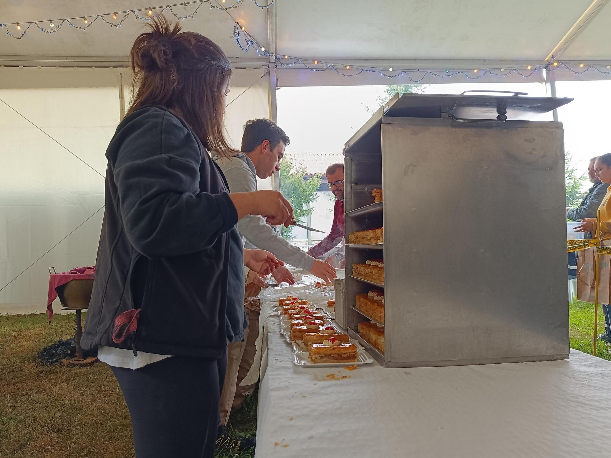
[[[304,180],[305,172],[305,167],[301,164],[294,164],[290,155],[280,162],[282,194],[293,206],[295,220],[301,224],[314,210],[313,208],[307,208],[307,206],[318,198],[315,192],[320,186],[322,177],[321,175],[314,175],[309,180]],[[282,236],[286,239],[293,238],[293,226],[283,226]]]

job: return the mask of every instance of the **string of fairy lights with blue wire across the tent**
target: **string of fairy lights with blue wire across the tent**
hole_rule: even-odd
[[[266,9],[274,4],[274,0],[261,0],[266,1],[266,4],[260,4],[259,0],[251,0],[251,2],[257,7]],[[169,5],[161,5],[158,7],[148,7],[142,9],[128,9],[120,12],[109,12],[101,13],[88,16],[76,16],[71,18],[62,18],[59,20],[49,19],[45,21],[26,21],[23,23],[0,23],[0,29],[5,31],[5,34],[12,38],[22,40],[26,37],[27,32],[31,27],[37,27],[41,32],[52,34],[58,32],[62,26],[68,24],[68,26],[75,27],[82,31],[86,31],[98,20],[103,21],[111,27],[121,27],[122,24],[133,16],[134,18],[142,21],[152,21],[158,15],[167,13],[177,20],[183,21],[189,18],[194,18],[200,13],[202,9],[216,9],[222,10],[233,20],[233,33],[232,37],[235,40],[236,45],[245,53],[254,49],[254,51],[263,57],[267,57],[271,61],[275,61],[280,68],[302,68],[311,70],[313,72],[323,71],[334,71],[338,75],[346,78],[353,78],[361,75],[362,73],[378,73],[381,76],[385,76],[389,79],[405,77],[410,82],[418,84],[425,81],[425,79],[433,78],[451,78],[453,76],[464,76],[469,80],[477,80],[486,76],[496,76],[502,78],[508,75],[518,75],[524,79],[530,78],[536,73],[542,71],[555,71],[560,69],[566,69],[573,73],[580,75],[588,71],[598,71],[602,75],[611,74],[611,63],[604,64],[587,64],[585,62],[578,61],[559,61],[552,59],[550,62],[544,62],[540,64],[524,65],[521,67],[500,67],[500,68],[474,68],[472,70],[461,69],[445,69],[440,70],[439,68],[393,68],[393,67],[376,67],[376,66],[364,66],[364,65],[349,65],[349,64],[337,64],[335,62],[329,62],[327,60],[318,59],[305,59],[303,57],[288,56],[287,54],[281,53],[270,53],[265,49],[265,46],[255,40],[255,38],[246,30],[246,26],[238,23],[229,13],[229,10],[237,9],[244,5],[247,0],[197,0],[181,2]],[[40,24],[43,24],[42,26]],[[606,67],[606,68],[605,68]]]

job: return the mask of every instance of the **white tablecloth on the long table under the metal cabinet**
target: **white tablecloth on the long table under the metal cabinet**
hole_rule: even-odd
[[[264,328],[259,458],[609,454],[605,360],[571,351],[570,360],[542,363],[299,368],[279,319],[268,315]]]

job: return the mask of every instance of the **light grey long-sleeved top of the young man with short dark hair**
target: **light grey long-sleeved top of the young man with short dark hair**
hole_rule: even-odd
[[[222,159],[218,153],[212,153],[212,159],[221,167],[229,192],[257,191],[257,171],[247,154],[238,153],[230,159]],[[243,241],[246,239],[258,249],[268,250],[279,260],[305,271],[312,269],[314,258],[282,238],[263,217],[243,217],[238,221],[238,231]]]

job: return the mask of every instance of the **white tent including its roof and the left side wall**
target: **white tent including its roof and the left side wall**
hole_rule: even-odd
[[[606,79],[611,75],[608,3],[274,0],[260,8],[253,0],[210,0],[188,1],[186,9],[179,4],[173,10],[191,15],[201,4],[197,14],[181,21],[183,29],[218,43],[236,69],[227,128],[239,145],[246,120],[276,118],[280,86],[422,79],[546,81],[553,89],[554,80]],[[232,4],[236,7],[226,11],[210,8]],[[64,271],[95,262],[104,151],[128,107],[125,67],[131,43],[145,30],[133,13],[119,27],[100,15],[110,13],[105,19],[118,23],[113,12],[120,20],[126,9],[145,9],[139,14],[146,17],[148,7],[160,12],[149,0],[0,0],[0,313],[43,311],[47,267]],[[9,35],[19,36],[32,21],[48,29],[49,20],[59,26],[62,18],[77,18],[73,23],[83,27],[81,16],[90,23],[86,31],[64,23],[47,33],[32,24],[20,40]],[[249,34],[241,34],[240,43],[255,42],[249,52],[232,36],[236,22]]]

